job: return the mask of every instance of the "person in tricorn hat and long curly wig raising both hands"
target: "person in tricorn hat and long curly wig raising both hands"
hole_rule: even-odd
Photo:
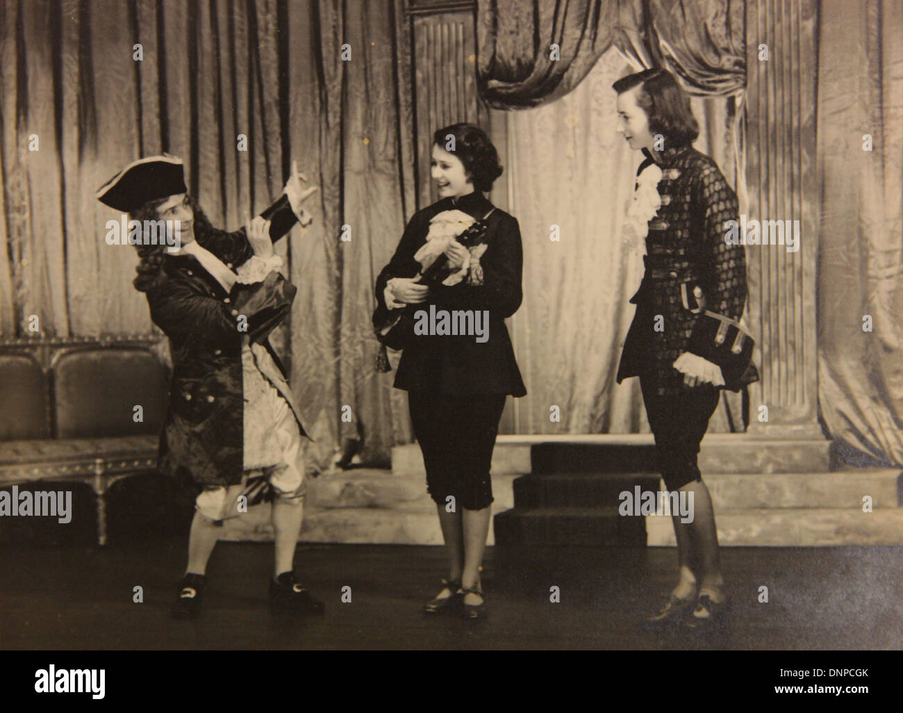
[[[163,473],[196,494],[188,566],[172,608],[198,614],[209,556],[222,521],[272,499],[276,607],[321,612],[293,574],[304,497],[300,410],[267,336],[289,314],[294,286],[273,239],[309,223],[293,165],[283,196],[247,228],[217,230],[187,194],[182,160],[152,156],[126,166],[98,199],[141,226],[135,288],[169,337],[172,388],[160,444]],[[150,238],[152,221],[179,226],[178,245]],[[178,221],[178,222],[176,222]],[[158,244],[153,244],[157,242]],[[177,249],[176,249],[177,248]]]

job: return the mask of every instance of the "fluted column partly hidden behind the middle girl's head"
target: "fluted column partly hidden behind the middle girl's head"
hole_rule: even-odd
[[[406,0],[413,64],[414,130],[416,132],[417,204],[437,200],[430,181],[433,132],[449,124],[479,124],[476,77],[476,3]]]

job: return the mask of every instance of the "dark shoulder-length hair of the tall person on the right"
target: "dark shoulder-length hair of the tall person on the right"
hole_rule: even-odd
[[[638,71],[611,85],[619,94],[640,87],[637,104],[649,120],[649,133],[665,136],[668,146],[687,146],[699,136],[699,124],[690,108],[690,97],[668,70]]]

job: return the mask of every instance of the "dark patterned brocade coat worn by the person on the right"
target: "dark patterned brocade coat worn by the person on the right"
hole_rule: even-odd
[[[643,153],[638,174],[653,163]],[[725,220],[739,218],[737,195],[718,165],[692,146],[667,149],[658,165],[662,205],[649,220],[646,273],[630,299],[637,312],[618,382],[643,373],[655,380],[659,395],[673,395],[686,389],[673,364],[687,351],[699,316],[691,311],[694,287],[702,287],[706,310],[739,320],[747,296],[746,254],[742,245],[724,240]],[[656,331],[656,315],[664,319],[662,331]]]

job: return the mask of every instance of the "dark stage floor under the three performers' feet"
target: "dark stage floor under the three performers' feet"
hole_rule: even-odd
[[[168,614],[186,540],[97,549],[0,548],[0,648],[130,649],[900,649],[903,548],[721,550],[734,602],[719,636],[644,633],[637,624],[676,576],[675,549],[533,553],[510,563],[488,550],[489,620],[427,618],[438,590],[435,547],[300,546],[296,571],[326,602],[321,617],[273,617],[272,546],[219,543],[205,608]],[[133,587],[144,587],[144,604]],[[351,587],[350,604],[340,603]],[[561,603],[549,601],[558,586]],[[768,604],[758,601],[768,586]]]

